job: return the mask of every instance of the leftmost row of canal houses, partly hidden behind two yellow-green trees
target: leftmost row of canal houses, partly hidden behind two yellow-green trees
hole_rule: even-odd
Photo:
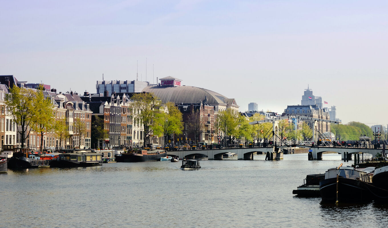
[[[12,81],[12,80],[11,80]],[[22,82],[13,81],[16,83],[9,83],[12,86],[23,86]],[[7,107],[5,106],[5,94],[9,93],[7,85],[0,84],[0,146],[3,145],[21,145],[20,134],[17,131],[17,124],[10,116]],[[90,148],[91,145],[91,120],[92,111],[89,105],[86,104],[78,94],[59,93],[54,89],[43,92],[45,97],[50,98],[53,104],[53,114],[55,121],[64,121],[67,126],[67,137],[60,139],[54,130],[49,130],[43,133],[43,142],[41,143],[41,134],[39,132],[27,130],[29,134],[24,140],[24,144],[32,150],[40,150],[41,147],[47,150],[54,150],[55,148],[73,149],[73,148]],[[75,126],[83,124],[85,126],[84,135],[80,135]],[[20,128],[20,127],[19,127]],[[28,132],[27,131],[27,132]]]

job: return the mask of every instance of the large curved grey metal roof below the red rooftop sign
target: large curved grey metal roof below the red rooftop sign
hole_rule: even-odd
[[[163,103],[173,102],[175,104],[197,104],[205,99],[208,104],[228,104],[227,97],[194,86],[147,86],[142,92],[154,93]]]

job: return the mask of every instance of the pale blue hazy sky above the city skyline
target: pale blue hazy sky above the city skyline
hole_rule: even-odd
[[[0,3],[0,75],[81,94],[172,76],[278,113],[309,86],[344,124],[388,124],[387,1]]]

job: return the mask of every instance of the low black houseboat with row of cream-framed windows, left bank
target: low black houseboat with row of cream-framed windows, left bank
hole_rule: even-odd
[[[100,153],[65,153],[60,154],[57,159],[53,159],[50,167],[69,168],[69,167],[88,167],[102,164],[102,154]]]

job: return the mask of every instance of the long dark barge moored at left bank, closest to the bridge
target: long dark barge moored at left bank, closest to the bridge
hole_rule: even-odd
[[[134,150],[129,153],[115,155],[117,162],[142,162],[160,161],[161,157],[166,157],[167,151],[161,149]]]

